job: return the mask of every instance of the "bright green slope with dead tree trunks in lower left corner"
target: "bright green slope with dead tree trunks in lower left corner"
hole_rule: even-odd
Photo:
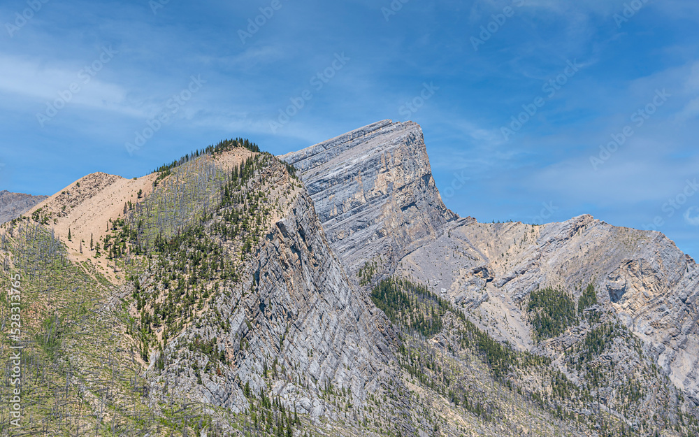
[[[203,409],[167,411],[143,398],[145,380],[120,335],[120,322],[106,309],[113,292],[90,264],[75,264],[49,231],[28,218],[0,229],[3,274],[21,280],[21,333],[2,336],[3,348],[22,345],[20,427],[0,409],[0,435],[117,436],[171,434],[209,428]],[[0,315],[8,320],[8,295],[0,294]],[[3,399],[9,399],[10,367],[3,366]],[[169,430],[169,431],[166,431]],[[212,433],[212,435],[215,433]]]

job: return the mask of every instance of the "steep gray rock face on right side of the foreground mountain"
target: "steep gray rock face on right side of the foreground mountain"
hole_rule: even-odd
[[[267,169],[255,184],[275,193],[293,191],[295,181],[282,169],[281,163]],[[168,344],[166,372],[150,371],[154,387],[175,387],[182,396],[241,412],[248,408],[245,385],[257,394],[270,384],[273,394],[299,413],[334,418],[336,408],[319,396],[326,387],[345,389],[354,403],[363,405],[368,394],[395,378],[393,331],[347,277],[305,190],[295,191],[266,231],[245,263],[244,277],[239,288],[210,303],[196,326]],[[230,325],[222,326],[218,317]],[[230,361],[218,374],[202,372],[199,383],[194,369],[220,365],[187,354],[195,336],[214,339]]]

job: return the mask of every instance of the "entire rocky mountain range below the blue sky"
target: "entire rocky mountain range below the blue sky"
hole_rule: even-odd
[[[27,435],[699,434],[694,260],[589,215],[458,217],[415,123],[226,140],[26,206],[0,345]]]

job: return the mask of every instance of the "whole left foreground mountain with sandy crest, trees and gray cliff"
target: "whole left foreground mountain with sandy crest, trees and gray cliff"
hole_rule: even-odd
[[[1,284],[21,275],[32,308],[24,413],[41,420],[26,429],[351,435],[383,399],[384,426],[414,434],[391,422],[405,408],[394,331],[289,170],[229,141],[140,180],[94,173],[5,224]],[[105,229],[80,246],[92,222]],[[69,226],[71,240],[55,229]]]

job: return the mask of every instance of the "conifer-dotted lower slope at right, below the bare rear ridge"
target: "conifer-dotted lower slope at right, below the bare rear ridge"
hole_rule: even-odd
[[[359,276],[364,279],[370,274],[361,270]],[[525,403],[538,406],[549,420],[562,421],[561,427],[570,432],[588,429],[599,436],[647,436],[665,429],[690,436],[699,431],[699,422],[680,407],[681,394],[647,359],[637,339],[620,324],[598,322],[600,314],[589,311],[597,303],[593,286],[584,289],[577,305],[572,295],[552,288],[533,292],[527,302],[528,314],[542,340],[556,338],[567,327],[577,326],[581,322],[579,314],[584,315],[584,326],[589,328],[572,350],[565,351],[570,369],[567,373],[557,371],[545,357],[517,352],[495,341],[470,322],[462,310],[424,285],[405,278],[379,280],[371,298],[405,333],[399,350],[405,371],[455,408],[463,408],[482,420],[509,423],[516,429],[508,411]],[[633,354],[637,373],[623,375],[623,369],[614,370],[614,357],[628,357],[628,353]],[[489,369],[493,387],[500,386],[489,390],[487,396],[482,396],[482,386],[476,388],[474,359]],[[571,375],[577,382],[570,379]],[[651,403],[662,416],[641,409],[640,401],[651,396],[644,388],[649,381],[666,387],[652,394]],[[585,411],[588,413],[582,413]]]

